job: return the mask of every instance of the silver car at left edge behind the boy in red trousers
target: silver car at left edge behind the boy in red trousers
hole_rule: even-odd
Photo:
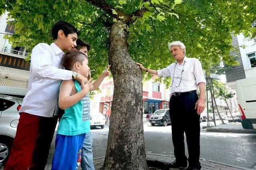
[[[18,110],[22,105],[22,98],[0,94],[0,163],[8,160],[12,142],[16,135],[20,118]]]

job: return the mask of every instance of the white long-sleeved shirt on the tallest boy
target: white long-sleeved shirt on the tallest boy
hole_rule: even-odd
[[[20,112],[43,117],[58,114],[58,92],[61,80],[71,80],[72,71],[61,64],[63,51],[54,43],[39,43],[31,54],[28,93]]]

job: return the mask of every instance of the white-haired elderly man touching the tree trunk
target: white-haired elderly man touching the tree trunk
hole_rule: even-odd
[[[172,123],[172,142],[176,160],[169,164],[170,168],[186,168],[187,170],[200,170],[200,113],[204,111],[206,80],[202,65],[196,58],[185,56],[185,45],[180,41],[169,44],[172,56],[176,60],[162,70],[151,70],[142,64],[136,63],[140,68],[157,76],[170,76],[172,78],[170,98],[170,117]],[[197,86],[200,98],[196,94]],[[180,121],[182,117],[182,121]],[[185,155],[184,132],[188,145],[188,159]],[[188,163],[187,163],[188,160]]]

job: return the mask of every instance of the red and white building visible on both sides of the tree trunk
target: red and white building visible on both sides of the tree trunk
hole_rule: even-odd
[[[143,110],[145,114],[153,113],[158,109],[169,108],[170,88],[165,84],[154,82],[156,76],[150,80],[143,81]],[[92,110],[99,111],[103,115],[110,116],[114,94],[114,81],[112,78],[105,78],[100,85],[100,93],[94,95]],[[98,108],[97,108],[98,107]]]

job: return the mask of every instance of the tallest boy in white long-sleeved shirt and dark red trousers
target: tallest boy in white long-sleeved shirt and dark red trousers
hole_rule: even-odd
[[[60,80],[88,83],[87,78],[61,65],[63,51],[76,47],[77,34],[73,25],[59,21],[52,27],[54,42],[33,48],[29,91],[19,110],[16,137],[5,170],[44,170],[57,123]]]

